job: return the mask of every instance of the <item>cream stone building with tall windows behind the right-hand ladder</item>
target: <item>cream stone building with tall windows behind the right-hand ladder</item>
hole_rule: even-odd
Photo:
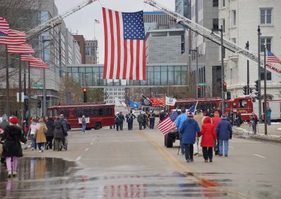
[[[249,41],[249,50],[255,55],[259,52],[258,26],[261,28],[261,59],[266,48],[281,58],[281,4],[278,0],[233,0],[219,1],[219,20],[223,25],[223,36],[238,46],[245,47]],[[224,59],[226,82],[231,97],[243,95],[243,86],[247,84],[247,59],[237,53],[226,50]],[[280,64],[275,64],[281,69]],[[249,62],[249,85],[259,78],[258,65]],[[265,74],[261,69],[261,95]],[[280,99],[280,76],[268,70],[266,74],[267,98]]]

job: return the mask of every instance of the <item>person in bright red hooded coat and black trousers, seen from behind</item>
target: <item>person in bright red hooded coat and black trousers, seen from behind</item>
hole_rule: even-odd
[[[203,125],[199,137],[202,136],[201,146],[203,148],[203,158],[205,163],[213,161],[213,147],[214,140],[216,140],[216,132],[214,132],[214,125],[211,123],[210,117],[203,119]]]

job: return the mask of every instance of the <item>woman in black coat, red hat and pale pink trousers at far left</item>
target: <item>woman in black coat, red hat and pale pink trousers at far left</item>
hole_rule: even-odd
[[[10,118],[10,124],[6,126],[1,142],[4,141],[4,150],[2,156],[6,157],[6,165],[8,177],[15,177],[18,169],[18,157],[22,157],[22,146],[20,142],[27,142],[22,133],[22,129],[18,125],[18,118],[13,116]]]

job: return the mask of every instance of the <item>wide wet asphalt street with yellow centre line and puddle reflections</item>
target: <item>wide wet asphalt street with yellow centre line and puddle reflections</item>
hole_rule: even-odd
[[[137,129],[135,127],[135,129]],[[158,130],[73,130],[68,151],[24,151],[0,198],[280,198],[280,145],[230,140],[229,157],[186,163]]]

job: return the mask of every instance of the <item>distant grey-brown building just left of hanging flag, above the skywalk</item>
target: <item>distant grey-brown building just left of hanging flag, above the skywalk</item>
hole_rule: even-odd
[[[98,64],[98,40],[85,41],[86,64]]]

